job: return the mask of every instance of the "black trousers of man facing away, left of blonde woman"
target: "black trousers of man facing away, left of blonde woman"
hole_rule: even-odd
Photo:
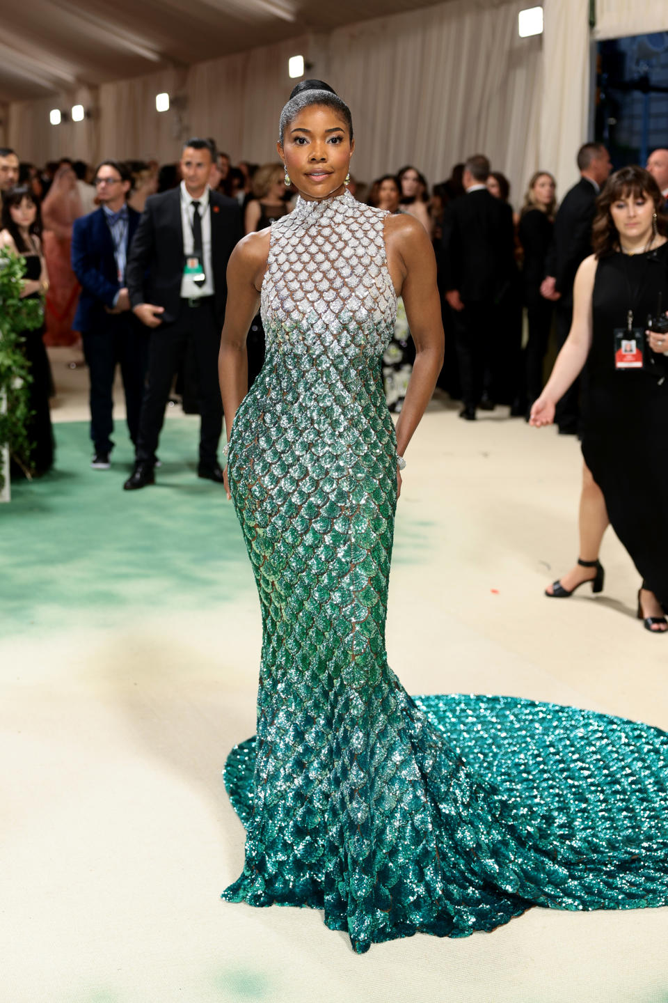
[[[483,394],[486,369],[494,371],[496,368],[494,302],[481,300],[467,303],[464,310],[453,310],[453,322],[462,401],[465,407],[475,409]]]

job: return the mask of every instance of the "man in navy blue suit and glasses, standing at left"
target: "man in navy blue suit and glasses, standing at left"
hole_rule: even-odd
[[[126,204],[129,171],[117,160],[103,160],[95,173],[100,208],[76,220],[72,232],[72,268],[81,283],[74,328],[81,331],[90,374],[91,466],[109,469],[114,443],[113,381],[120,364],[127,427],[136,441],[146,371],[148,338],[130,309],[125,268],[139,214]]]

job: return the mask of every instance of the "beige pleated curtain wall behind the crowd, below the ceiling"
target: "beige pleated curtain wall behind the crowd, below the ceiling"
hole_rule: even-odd
[[[13,102],[9,139],[22,158],[37,162],[65,153],[164,162],[177,157],[188,134],[213,136],[234,159],[274,159],[278,112],[292,85],[287,58],[302,53],[312,63],[308,75],[327,80],[352,107],[360,179],[411,162],[434,184],[457,160],[483,151],[510,178],[518,205],[539,165],[561,181],[562,158],[572,160],[582,141],[573,105],[586,109],[588,100],[587,4],[545,2],[556,38],[519,37],[517,17],[527,0],[451,0],[188,70],[102,84],[88,94],[94,114],[86,122],[49,125],[49,109],[69,107],[69,94]],[[560,11],[552,21],[551,8]],[[573,46],[576,22],[578,31],[584,24],[584,37]],[[544,88],[542,46],[551,74]],[[158,113],[155,94],[162,90],[172,107]]]

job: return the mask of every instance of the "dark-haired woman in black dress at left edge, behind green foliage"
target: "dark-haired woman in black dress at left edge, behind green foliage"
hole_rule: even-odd
[[[25,258],[26,271],[21,296],[32,299],[45,296],[49,281],[40,241],[42,228],[39,205],[27,185],[4,193],[1,227],[0,247]],[[28,441],[33,443],[29,472],[40,476],[53,466],[53,428],[49,411],[51,368],[44,347],[44,325],[33,331],[21,331],[20,334],[31,376],[28,406],[32,416],[26,429]]]

